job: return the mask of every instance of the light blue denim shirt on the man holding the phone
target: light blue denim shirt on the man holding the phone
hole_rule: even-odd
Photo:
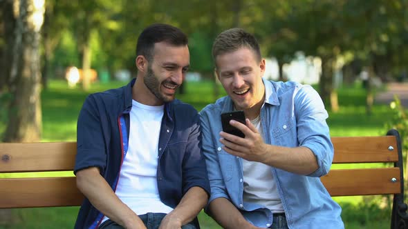
[[[263,79],[265,101],[261,108],[263,140],[266,143],[305,146],[315,154],[319,168],[310,175],[297,175],[271,167],[289,228],[344,228],[340,206],[331,199],[319,177],[328,173],[333,161],[324,109],[319,94],[310,86]],[[223,197],[236,206],[254,226],[272,225],[272,212],[258,204],[243,202],[242,159],[228,154],[219,142],[221,113],[233,110],[230,97],[201,110],[203,152],[210,179],[211,197]]]

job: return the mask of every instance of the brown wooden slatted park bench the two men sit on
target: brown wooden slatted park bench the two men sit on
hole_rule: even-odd
[[[333,197],[393,195],[391,228],[408,228],[399,134],[333,137],[333,163],[391,163],[364,169],[336,169],[322,177]],[[0,173],[72,171],[75,142],[0,143]],[[80,206],[75,177],[0,178],[0,208]]]

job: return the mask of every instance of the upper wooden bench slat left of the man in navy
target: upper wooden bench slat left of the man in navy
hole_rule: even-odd
[[[0,143],[0,172],[73,170],[76,153],[76,142]]]

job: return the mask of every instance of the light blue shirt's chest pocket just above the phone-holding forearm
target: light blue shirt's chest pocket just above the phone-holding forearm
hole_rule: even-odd
[[[272,136],[275,139],[275,143],[279,146],[297,146],[295,117],[288,117],[279,121],[272,130]]]

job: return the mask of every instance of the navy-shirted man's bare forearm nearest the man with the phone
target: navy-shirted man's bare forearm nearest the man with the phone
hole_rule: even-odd
[[[192,187],[181,199],[178,206],[165,216],[161,228],[181,228],[191,222],[207,204],[208,195],[203,188]]]

